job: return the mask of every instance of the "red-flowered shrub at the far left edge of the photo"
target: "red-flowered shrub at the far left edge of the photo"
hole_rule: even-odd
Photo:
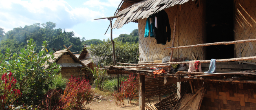
[[[7,73],[2,75],[0,82],[0,109],[9,106],[21,95],[20,90],[15,88],[17,80],[11,76],[11,72],[9,75]]]

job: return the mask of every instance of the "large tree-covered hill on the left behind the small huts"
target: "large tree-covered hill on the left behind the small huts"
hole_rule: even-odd
[[[42,27],[41,27],[42,26]],[[44,40],[49,41],[49,46],[46,47],[50,52],[52,48],[64,49],[63,45],[70,46],[71,51],[81,51],[83,47],[79,37],[75,37],[73,31],[66,32],[65,29],[55,29],[56,24],[53,22],[46,22],[45,24],[36,23],[30,26],[13,28],[4,34],[4,30],[0,28],[0,50],[5,53],[6,48],[11,48],[14,53],[19,53],[21,48],[26,45],[26,40],[33,38],[35,40],[36,48],[40,49],[40,43]],[[1,37],[2,36],[2,37]],[[2,40],[1,40],[2,39]],[[38,53],[39,50],[36,50]]]

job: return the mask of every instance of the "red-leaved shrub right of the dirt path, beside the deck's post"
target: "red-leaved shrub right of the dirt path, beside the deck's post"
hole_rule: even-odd
[[[132,74],[127,77],[127,81],[121,82],[121,87],[119,88],[119,92],[115,91],[112,95],[114,96],[114,99],[124,105],[124,98],[128,97],[129,99],[132,99],[132,95],[137,92],[137,89],[135,87],[135,81],[137,81],[137,77],[133,76]]]

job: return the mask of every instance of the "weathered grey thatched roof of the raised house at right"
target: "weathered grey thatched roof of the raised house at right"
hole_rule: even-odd
[[[141,2],[134,3],[130,7],[119,11],[115,15],[117,16],[117,19],[115,20],[112,28],[119,29],[128,22],[135,22],[135,20],[138,19],[148,18],[150,15],[157,13],[163,9],[167,9],[176,4],[183,4],[188,1],[189,0],[143,0]],[[121,5],[120,9],[127,5],[129,4]]]

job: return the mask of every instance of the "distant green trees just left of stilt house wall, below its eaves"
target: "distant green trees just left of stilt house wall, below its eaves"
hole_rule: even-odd
[[[139,42],[139,30],[135,29],[132,31],[132,33],[130,33],[130,35],[128,34],[120,34],[119,37],[116,37],[114,40],[116,41],[121,41],[123,43],[125,42]]]

